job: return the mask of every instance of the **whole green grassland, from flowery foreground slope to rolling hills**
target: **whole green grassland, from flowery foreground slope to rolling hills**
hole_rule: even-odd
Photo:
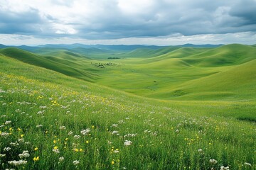
[[[1,169],[256,169],[256,48],[142,51],[0,50]]]

